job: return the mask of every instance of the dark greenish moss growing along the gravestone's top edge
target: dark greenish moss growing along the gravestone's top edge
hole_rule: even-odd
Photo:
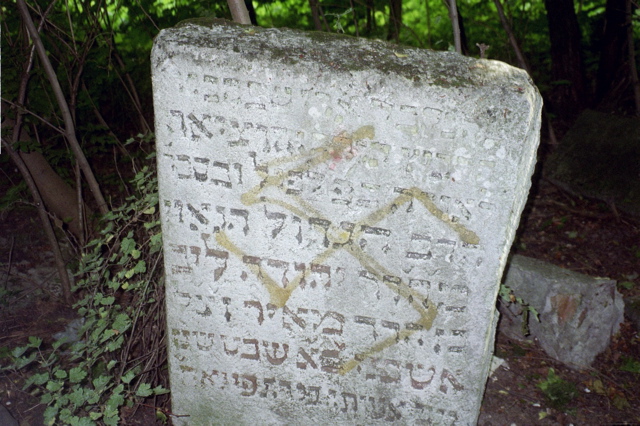
[[[219,18],[189,19],[176,27],[187,25],[227,27],[229,36],[225,42],[232,44],[234,52],[250,51],[250,57],[269,55],[273,61],[286,65],[313,63],[334,73],[377,71],[383,75],[395,74],[411,81],[416,88],[427,84],[445,88],[477,84],[469,72],[474,60],[450,52],[410,48],[344,34],[252,27]],[[269,35],[265,35],[267,32]],[[251,41],[243,40],[245,34],[247,38],[257,37]],[[277,37],[279,34],[283,37]],[[295,38],[292,40],[289,35]],[[212,48],[218,46],[216,40],[197,37],[187,38],[183,43]]]

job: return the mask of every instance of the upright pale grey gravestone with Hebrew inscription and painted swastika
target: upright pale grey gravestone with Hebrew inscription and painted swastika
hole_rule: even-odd
[[[472,424],[541,98],[506,64],[196,20],[152,53],[177,424]]]

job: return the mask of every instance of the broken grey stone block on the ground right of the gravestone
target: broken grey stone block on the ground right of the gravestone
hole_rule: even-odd
[[[505,285],[540,314],[529,318],[531,338],[551,357],[586,368],[604,351],[623,321],[624,302],[616,282],[594,278],[524,256],[513,256]],[[517,305],[501,307],[500,331],[523,339]]]

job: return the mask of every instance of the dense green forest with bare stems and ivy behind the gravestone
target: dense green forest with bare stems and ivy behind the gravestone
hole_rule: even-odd
[[[434,50],[455,50],[458,27],[463,54],[529,71],[545,99],[541,157],[587,108],[640,114],[633,0],[246,4],[263,27]],[[29,371],[26,385],[48,405],[48,422],[115,424],[135,400],[167,401],[153,38],[184,19],[231,15],[221,0],[8,0],[0,13],[0,211],[38,209],[59,298],[84,318],[85,336],[66,344],[33,338],[0,349],[0,361]]]

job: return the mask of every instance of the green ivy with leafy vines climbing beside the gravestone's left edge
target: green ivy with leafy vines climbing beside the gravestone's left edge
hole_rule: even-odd
[[[46,425],[117,425],[123,407],[144,399],[158,407],[157,399],[169,392],[167,375],[159,371],[166,355],[154,168],[144,167],[131,184],[134,195],[103,218],[80,260],[73,288],[81,324],[76,336],[65,333],[49,348],[31,337],[5,367],[26,371],[24,388],[47,404]],[[166,420],[161,409],[156,415]]]

